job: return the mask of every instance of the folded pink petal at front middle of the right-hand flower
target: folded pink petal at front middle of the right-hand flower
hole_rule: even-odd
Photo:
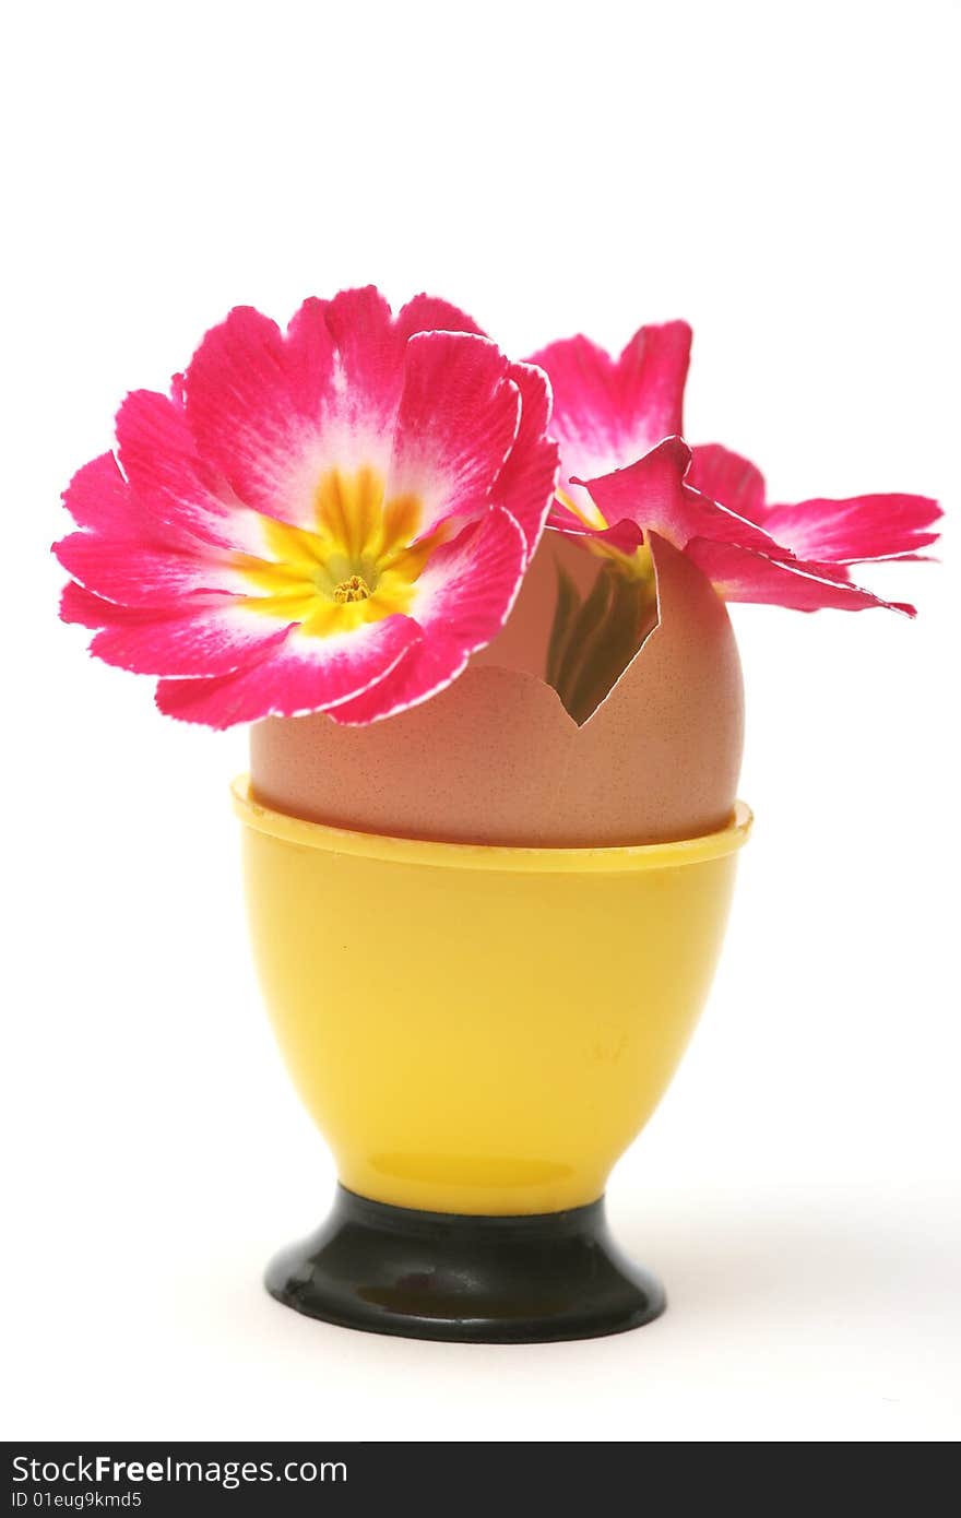
[[[636,522],[683,548],[692,537],[711,537],[758,548],[776,545],[759,527],[692,490],[685,475],[691,449],[680,437],[666,437],[627,469],[600,480],[578,480],[613,527]]]

